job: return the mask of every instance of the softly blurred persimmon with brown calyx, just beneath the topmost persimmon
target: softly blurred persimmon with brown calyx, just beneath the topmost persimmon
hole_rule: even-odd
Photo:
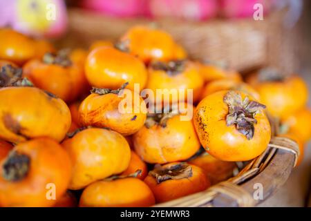
[[[187,100],[187,90],[192,89],[194,102],[199,99],[204,80],[193,62],[187,60],[154,61],[149,65],[148,72],[146,88],[153,90],[155,95],[157,89],[162,89],[162,97],[169,97],[170,102],[174,103],[180,99]],[[174,100],[171,93],[171,90],[174,89],[185,90],[185,95],[181,94],[183,97],[178,96],[178,101]]]

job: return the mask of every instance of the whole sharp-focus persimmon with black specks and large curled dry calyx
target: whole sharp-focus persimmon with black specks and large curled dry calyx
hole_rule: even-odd
[[[224,161],[257,157],[270,142],[270,122],[263,104],[238,90],[221,90],[202,99],[194,126],[205,150]]]

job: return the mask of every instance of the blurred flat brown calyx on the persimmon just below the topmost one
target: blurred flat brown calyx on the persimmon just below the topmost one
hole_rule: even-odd
[[[185,60],[171,60],[168,62],[153,61],[151,63],[151,68],[153,68],[153,70],[163,70],[170,76],[182,73],[185,70],[185,66]]]

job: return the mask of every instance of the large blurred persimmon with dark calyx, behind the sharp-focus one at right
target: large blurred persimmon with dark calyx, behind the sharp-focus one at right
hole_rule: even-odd
[[[261,102],[274,117],[287,117],[305,106],[308,88],[301,77],[285,76],[265,68],[251,75],[247,82],[259,93]]]

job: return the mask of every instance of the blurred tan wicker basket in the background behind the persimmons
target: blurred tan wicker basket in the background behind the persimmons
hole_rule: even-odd
[[[227,61],[239,71],[271,65],[288,73],[296,70],[298,59],[292,52],[295,44],[290,44],[294,32],[284,28],[284,15],[285,11],[279,11],[263,21],[216,19],[201,23],[160,19],[156,24],[185,46],[193,59]],[[71,9],[68,34],[57,43],[60,47],[88,47],[94,40],[114,41],[131,26],[149,23],[146,19],[117,19]]]

